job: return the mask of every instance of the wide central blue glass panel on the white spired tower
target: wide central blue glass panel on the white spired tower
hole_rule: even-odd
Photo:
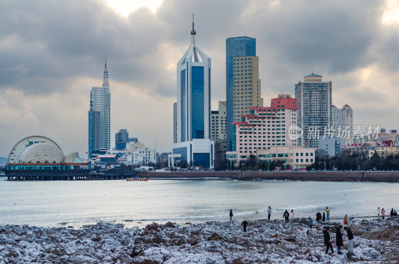
[[[203,67],[191,67],[191,129],[192,138],[204,138]]]

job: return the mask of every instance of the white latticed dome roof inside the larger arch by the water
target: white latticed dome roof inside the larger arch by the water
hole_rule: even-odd
[[[25,148],[19,163],[63,163],[64,153],[56,144],[40,142]]]

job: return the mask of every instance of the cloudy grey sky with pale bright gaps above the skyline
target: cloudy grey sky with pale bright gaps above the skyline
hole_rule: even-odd
[[[212,60],[212,109],[225,100],[225,39],[256,38],[265,105],[312,71],[355,124],[399,129],[397,0],[0,0],[0,156],[24,136],[88,148],[90,89],[107,58],[111,146],[126,128],[170,151],[176,63],[197,44]]]

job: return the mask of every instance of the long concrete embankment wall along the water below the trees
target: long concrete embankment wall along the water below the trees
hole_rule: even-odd
[[[139,172],[149,179],[236,179],[236,180],[300,180],[300,181],[373,181],[399,182],[399,171],[174,171]]]

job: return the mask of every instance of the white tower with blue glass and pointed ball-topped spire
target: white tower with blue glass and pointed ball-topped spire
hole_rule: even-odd
[[[173,144],[172,163],[193,161],[195,166],[212,167],[210,58],[196,45],[194,20],[191,45],[177,64],[176,112],[177,142]]]

